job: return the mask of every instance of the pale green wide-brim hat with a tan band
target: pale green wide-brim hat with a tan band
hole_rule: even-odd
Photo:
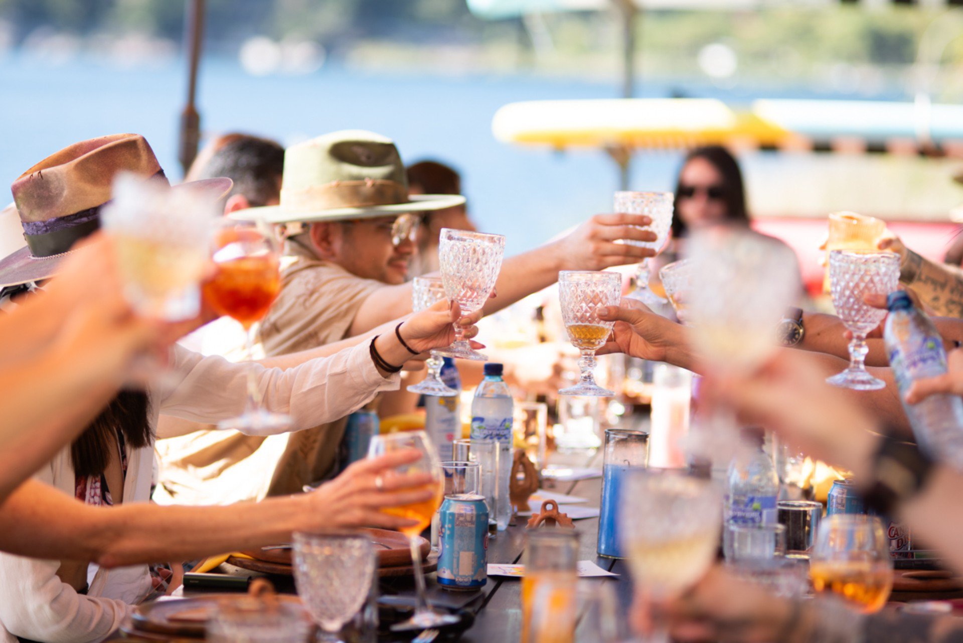
[[[411,195],[398,147],[364,130],[344,130],[288,147],[278,205],[231,214],[241,221],[317,223],[442,210],[461,195]]]

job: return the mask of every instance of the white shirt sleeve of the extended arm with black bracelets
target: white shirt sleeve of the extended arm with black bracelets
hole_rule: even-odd
[[[395,390],[401,383],[397,373],[381,377],[366,342],[286,370],[258,363],[231,363],[218,356],[205,358],[175,344],[172,370],[181,379],[169,392],[162,391],[155,397],[159,399],[155,413],[205,423],[241,415],[247,398],[248,368],[255,369],[264,407],[291,415],[291,431],[349,415],[378,392]]]

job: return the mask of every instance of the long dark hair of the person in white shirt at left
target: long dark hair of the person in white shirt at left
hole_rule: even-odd
[[[149,402],[141,390],[121,390],[100,415],[93,418],[77,440],[70,446],[74,475],[100,475],[107,469],[117,432],[123,433],[130,448],[150,444],[152,435],[147,423]]]

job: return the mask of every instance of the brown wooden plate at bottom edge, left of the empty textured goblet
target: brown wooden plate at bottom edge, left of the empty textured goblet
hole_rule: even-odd
[[[279,595],[279,601],[301,606],[297,596]],[[211,610],[221,603],[250,601],[247,594],[210,594],[192,599],[152,601],[134,609],[131,616],[131,633],[165,634],[185,638],[204,638],[205,627]],[[302,607],[303,608],[303,607]],[[304,612],[304,618],[311,617]]]

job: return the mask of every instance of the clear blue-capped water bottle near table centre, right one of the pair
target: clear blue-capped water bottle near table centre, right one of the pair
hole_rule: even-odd
[[[484,365],[484,379],[475,389],[472,401],[472,440],[495,440],[499,444],[498,484],[495,491],[498,530],[505,531],[511,520],[508,483],[511,479],[511,423],[513,414],[511,391],[502,379],[502,364]]]

